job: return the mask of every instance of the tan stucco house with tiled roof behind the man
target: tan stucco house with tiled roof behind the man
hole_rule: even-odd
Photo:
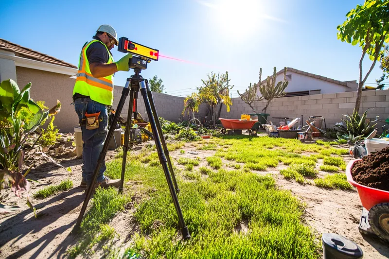
[[[78,55],[78,53],[75,53]],[[0,38],[0,81],[13,79],[20,88],[32,83],[31,98],[51,108],[59,100],[61,111],[54,124],[61,132],[72,132],[78,118],[71,105],[77,67],[52,56]]]

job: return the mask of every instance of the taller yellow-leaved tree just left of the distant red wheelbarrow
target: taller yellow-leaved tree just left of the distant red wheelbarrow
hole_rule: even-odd
[[[203,86],[197,87],[198,95],[202,103],[207,103],[210,106],[212,112],[213,127],[215,127],[215,107],[220,105],[226,105],[227,112],[230,112],[230,105],[232,105],[230,98],[230,89],[233,86],[229,85],[230,79],[228,78],[228,72],[225,74],[215,74],[211,72],[211,75],[207,74],[208,79],[201,81]],[[220,116],[221,108],[219,109],[218,117]]]

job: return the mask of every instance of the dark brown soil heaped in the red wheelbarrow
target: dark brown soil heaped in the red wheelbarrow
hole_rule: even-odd
[[[356,161],[351,173],[359,184],[389,191],[389,147]]]

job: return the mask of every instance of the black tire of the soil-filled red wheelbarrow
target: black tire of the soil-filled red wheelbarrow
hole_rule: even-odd
[[[381,239],[389,242],[389,203],[379,203],[369,210],[371,230]]]

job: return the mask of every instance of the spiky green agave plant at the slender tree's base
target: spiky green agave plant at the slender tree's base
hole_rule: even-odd
[[[369,136],[377,124],[370,125],[370,123],[365,122],[368,110],[362,116],[356,110],[354,110],[352,115],[343,115],[346,119],[342,119],[343,125],[337,125],[339,130],[337,137],[339,139],[353,140],[354,142],[360,138]]]

